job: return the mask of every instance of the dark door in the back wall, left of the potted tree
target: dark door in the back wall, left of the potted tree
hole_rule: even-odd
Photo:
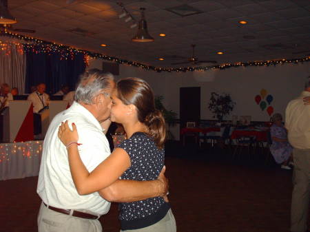
[[[200,87],[180,87],[180,128],[200,120]]]

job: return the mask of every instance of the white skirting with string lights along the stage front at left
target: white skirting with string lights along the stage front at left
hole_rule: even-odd
[[[43,141],[0,144],[0,180],[38,176]]]

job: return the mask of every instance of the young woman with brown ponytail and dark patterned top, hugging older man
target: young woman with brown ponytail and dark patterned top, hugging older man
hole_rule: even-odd
[[[127,139],[92,173],[83,170],[76,143],[78,134],[72,124],[59,128],[59,138],[68,147],[72,178],[81,193],[99,191],[119,177],[124,180],[156,180],[164,166],[165,120],[154,106],[151,87],[139,78],[116,83],[112,93],[111,120],[121,123]],[[87,175],[85,175],[87,172]],[[167,198],[166,198],[167,200]],[[120,203],[121,231],[175,232],[176,222],[169,203],[162,197]]]

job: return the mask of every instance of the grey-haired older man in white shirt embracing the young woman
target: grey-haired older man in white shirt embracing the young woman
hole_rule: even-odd
[[[81,76],[72,106],[56,115],[45,136],[37,192],[42,199],[38,216],[39,232],[102,231],[97,220],[110,209],[110,201],[130,202],[161,196],[165,182],[117,180],[99,193],[81,196],[74,187],[67,150],[57,137],[61,122],[74,122],[79,131],[81,159],[92,171],[107,156],[110,147],[103,131],[110,126],[112,74],[89,70]]]

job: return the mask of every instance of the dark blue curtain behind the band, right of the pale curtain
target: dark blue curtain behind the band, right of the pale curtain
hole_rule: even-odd
[[[30,87],[39,83],[46,84],[46,93],[50,95],[58,92],[62,85],[74,90],[79,75],[86,68],[83,54],[74,54],[74,59],[68,60],[61,60],[61,53],[46,54],[28,50],[25,55],[25,93],[30,93]]]

